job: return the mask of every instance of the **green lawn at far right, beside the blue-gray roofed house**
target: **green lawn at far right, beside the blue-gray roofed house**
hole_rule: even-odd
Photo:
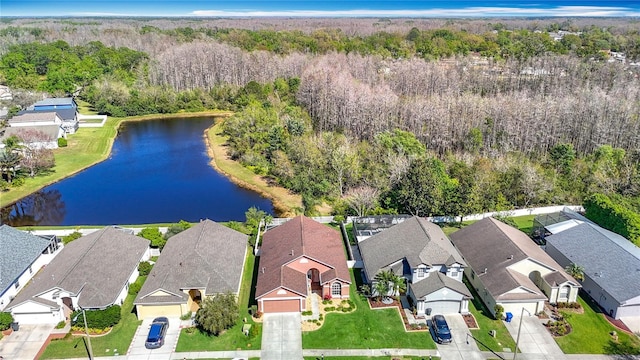
[[[556,338],[556,342],[566,354],[640,354],[640,340],[620,330],[616,330],[600,313],[592,299],[582,295],[578,301],[584,314],[569,314],[570,334]],[[616,330],[618,341],[609,335]]]

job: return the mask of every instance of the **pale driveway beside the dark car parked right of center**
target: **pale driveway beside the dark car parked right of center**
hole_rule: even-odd
[[[450,344],[441,345],[436,343],[441,358],[447,360],[484,360],[485,357],[471,337],[469,327],[467,327],[467,324],[464,322],[462,315],[449,314],[444,317],[447,319],[453,340]],[[429,329],[431,329],[431,327],[429,327]],[[433,337],[433,331],[430,331]]]

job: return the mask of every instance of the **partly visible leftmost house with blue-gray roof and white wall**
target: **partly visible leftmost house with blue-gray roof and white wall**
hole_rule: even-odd
[[[37,236],[0,226],[0,311],[61,248],[55,236]]]

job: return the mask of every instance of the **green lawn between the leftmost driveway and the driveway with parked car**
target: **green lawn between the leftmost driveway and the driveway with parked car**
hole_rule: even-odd
[[[142,285],[146,276],[140,276],[137,283]],[[142,321],[138,321],[132,312],[135,295],[128,295],[122,305],[122,319],[105,336],[92,337],[91,346],[95,356],[113,356],[117,349],[120,355],[126,354],[133,340],[133,335]],[[87,351],[81,336],[69,336],[64,339],[54,340],[47,346],[41,359],[82,358],[87,356]],[[109,350],[109,351],[107,351]]]

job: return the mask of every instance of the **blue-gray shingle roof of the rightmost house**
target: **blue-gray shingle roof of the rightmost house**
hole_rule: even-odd
[[[590,223],[580,224],[547,236],[547,245],[582,266],[585,276],[623,303],[640,296],[640,249],[628,240],[622,246],[614,239],[619,235],[603,230]]]

